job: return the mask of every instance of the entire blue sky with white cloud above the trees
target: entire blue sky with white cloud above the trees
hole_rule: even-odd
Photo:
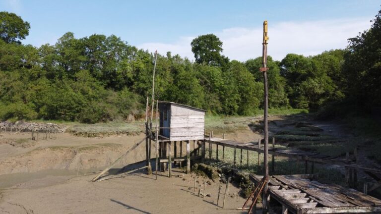
[[[380,9],[380,0],[0,0],[0,11],[30,23],[23,44],[55,44],[69,31],[76,38],[114,34],[137,48],[191,60],[192,39],[209,33],[230,59],[260,56],[263,20],[276,60],[343,49]]]

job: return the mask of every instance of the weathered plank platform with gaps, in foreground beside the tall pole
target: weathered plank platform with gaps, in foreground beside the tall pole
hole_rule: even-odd
[[[335,184],[322,184],[313,175],[272,175],[269,194],[282,205],[283,214],[379,213],[381,200]],[[258,183],[263,176],[250,174]]]

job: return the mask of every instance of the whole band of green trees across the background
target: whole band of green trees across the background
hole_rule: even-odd
[[[30,24],[0,12],[0,119],[58,119],[94,123],[142,117],[150,96],[154,55],[121,38],[65,33],[54,45],[21,43]],[[269,107],[340,112],[381,104],[381,11],[372,27],[344,50],[315,56],[268,57]],[[195,61],[158,55],[155,98],[215,114],[251,115],[262,107],[261,57],[222,55],[213,34],[191,42]],[[348,105],[350,104],[350,105]]]

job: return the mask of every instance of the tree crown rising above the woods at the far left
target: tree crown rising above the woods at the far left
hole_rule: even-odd
[[[0,12],[0,38],[6,43],[18,43],[29,35],[30,24],[14,13]]]

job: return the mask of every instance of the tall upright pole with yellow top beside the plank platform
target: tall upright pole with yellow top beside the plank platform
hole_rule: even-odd
[[[263,86],[264,86],[264,105],[263,105],[263,129],[264,129],[264,176],[266,184],[263,189],[263,214],[268,214],[268,85],[267,85],[267,20],[263,22],[263,49],[262,49],[262,66],[259,70],[263,73]]]

